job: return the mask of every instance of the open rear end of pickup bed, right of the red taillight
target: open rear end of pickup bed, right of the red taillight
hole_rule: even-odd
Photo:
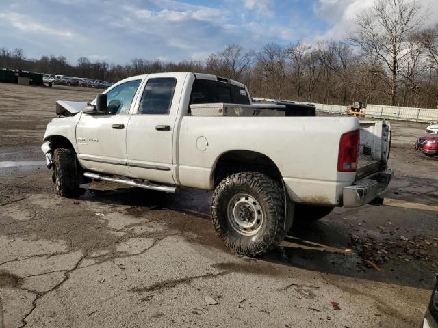
[[[391,126],[387,121],[361,121],[359,165],[355,180],[387,168]]]

